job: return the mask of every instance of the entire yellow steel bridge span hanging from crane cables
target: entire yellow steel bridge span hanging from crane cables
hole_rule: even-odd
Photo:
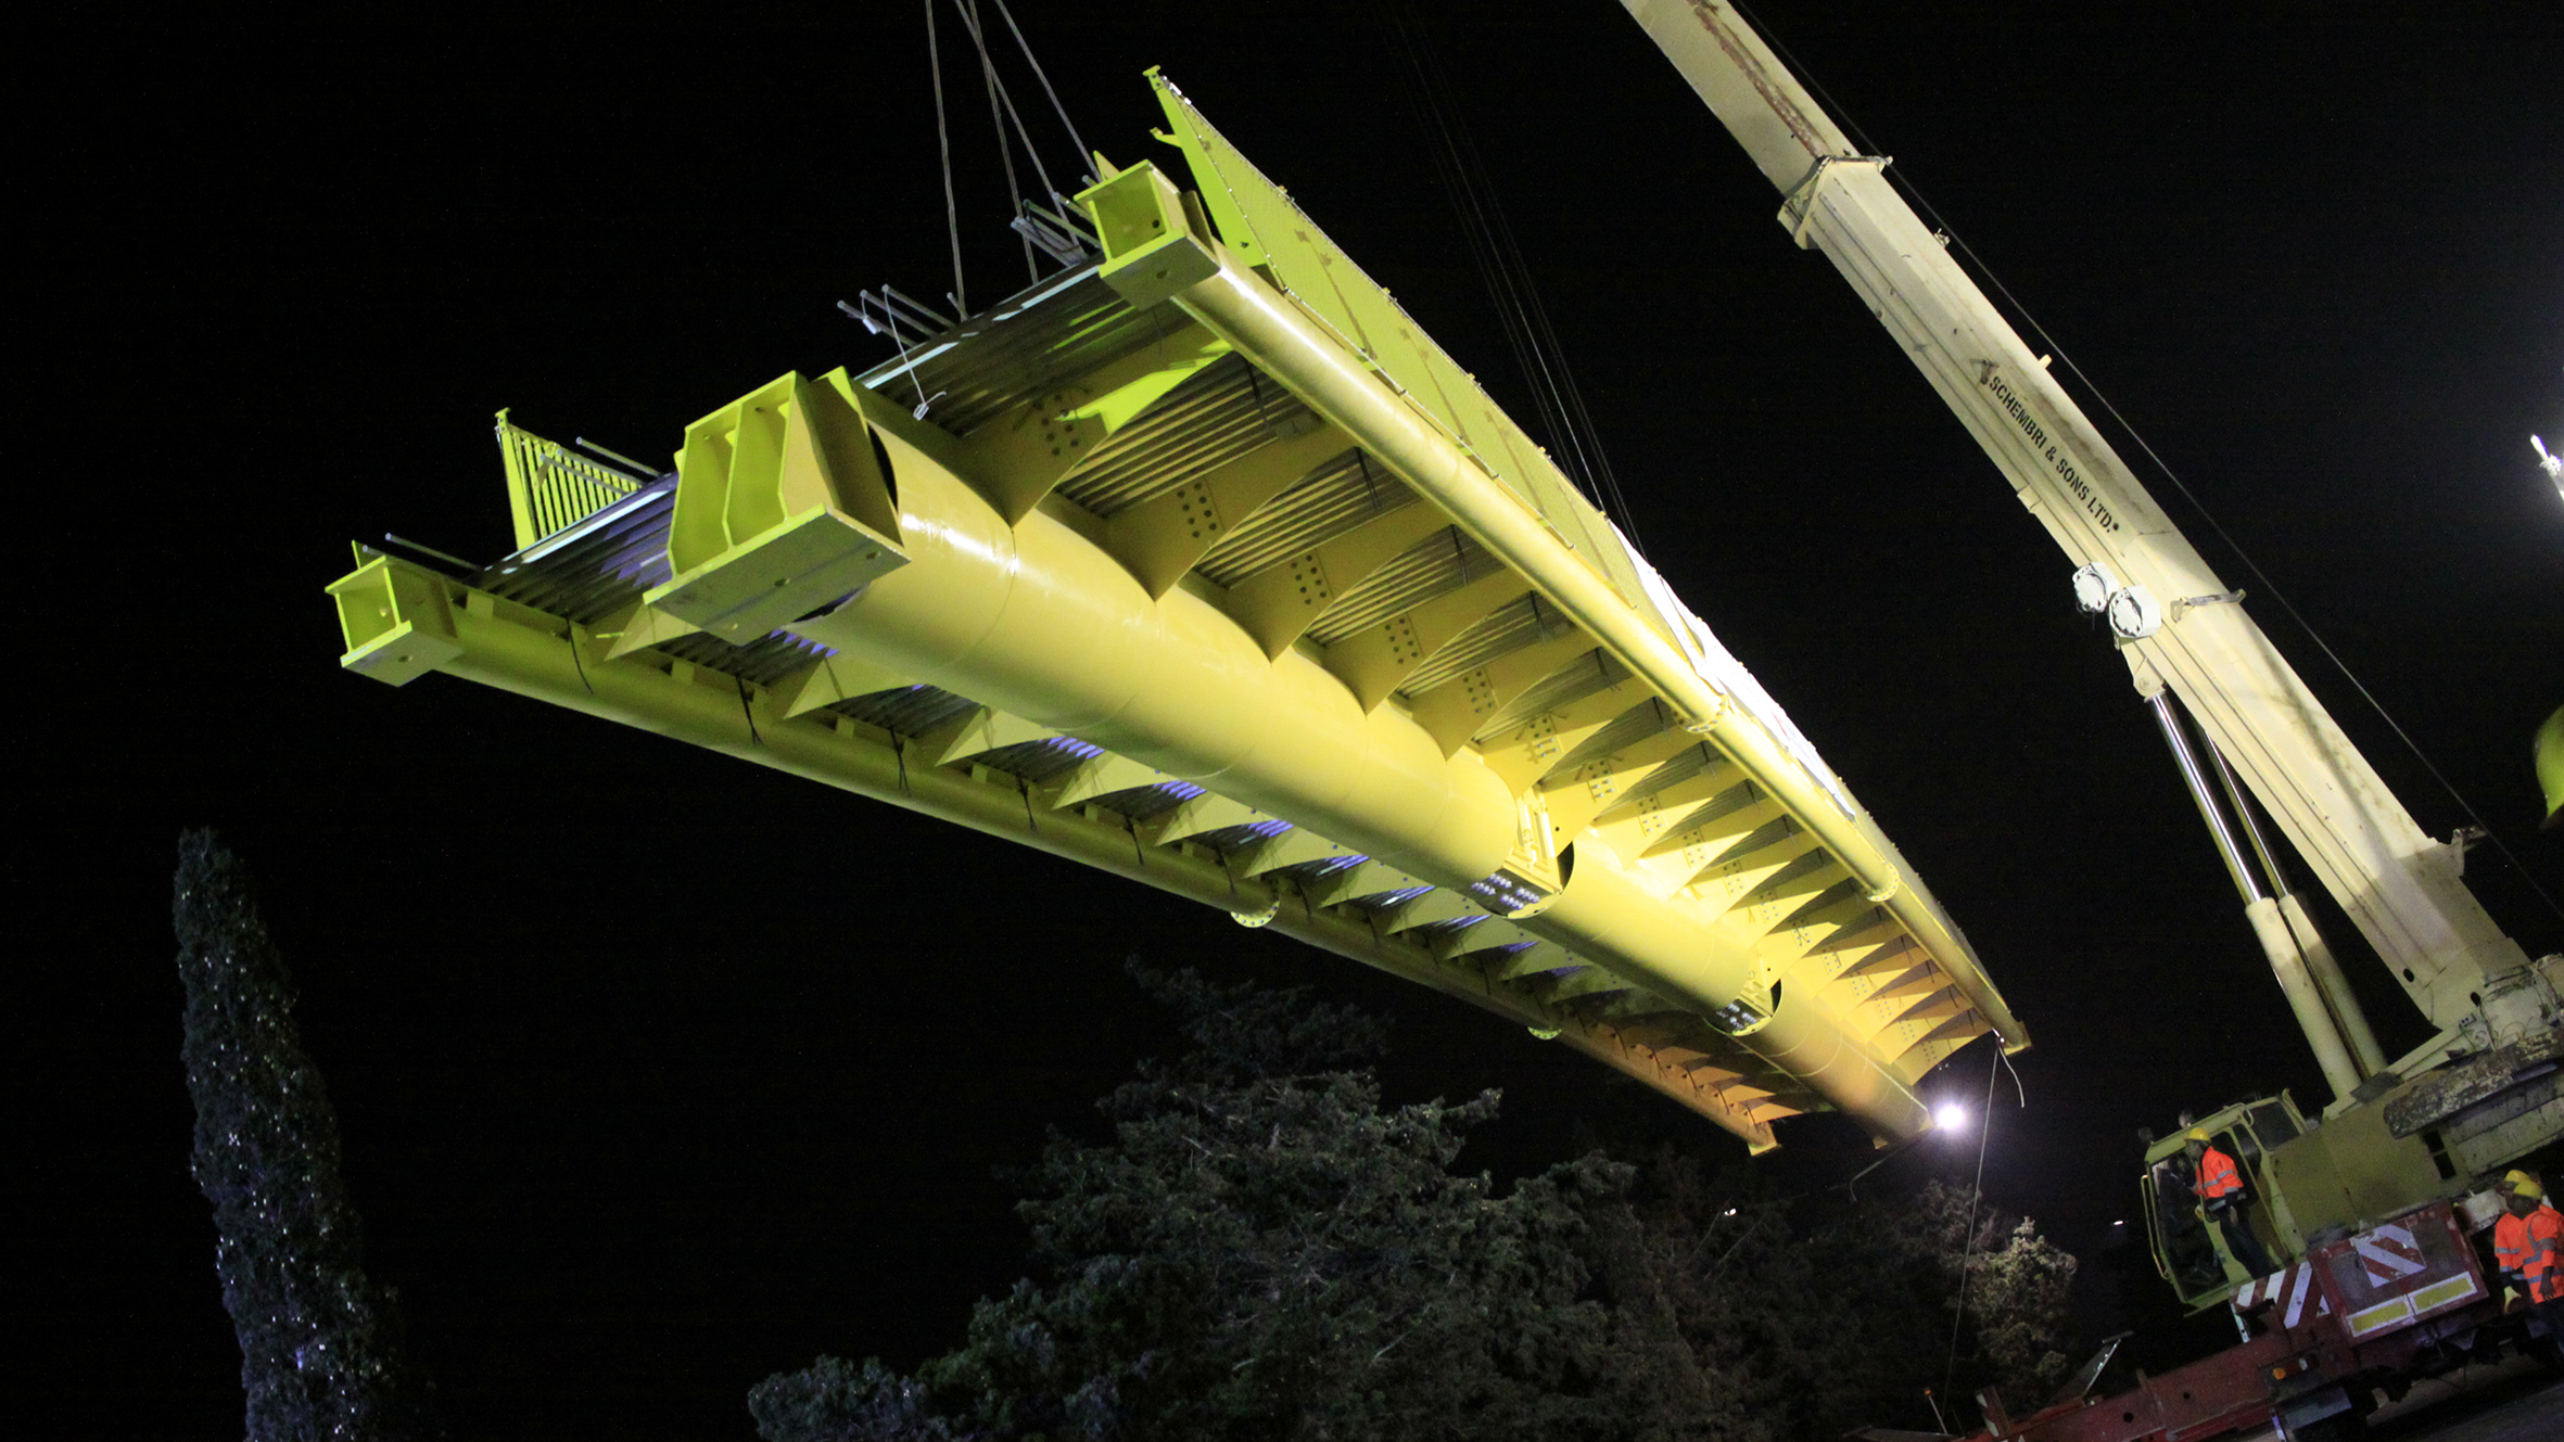
[[[1103,166],[1097,259],[900,364],[759,387],[628,494],[574,466],[538,492],[528,458],[559,448],[503,425],[520,551],[436,576],[359,548],[331,587],[346,666],[1223,907],[1754,1150],[1810,1109],[1915,1135],[1923,1071],[2028,1045],[1761,686],[1159,92],[1200,190]]]

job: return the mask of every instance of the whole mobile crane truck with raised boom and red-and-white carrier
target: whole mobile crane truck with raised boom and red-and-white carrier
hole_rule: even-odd
[[[1623,5],[1782,192],[1790,238],[1833,261],[2077,566],[2074,599],[2108,622],[2333,1091],[2315,1117],[2282,1091],[2149,1137],[2154,1265],[2192,1311],[2231,1311],[2233,1347],[2095,1396],[2105,1350],[2038,1411],[1979,1396],[1982,1437],[2349,1434],[2372,1388],[2531,1342],[2487,1265],[2492,1183],[2564,1137],[2564,955],[2531,960],[2502,935],[2461,884],[2467,838],[2433,840],[2387,791],[2244,594],[1897,195],[1890,159],[1861,154],[1733,5]],[[2428,1042],[2379,1050],[2261,814],[2431,1019]],[[2192,1209],[2192,1130],[2241,1165],[2277,1270],[2251,1273]]]

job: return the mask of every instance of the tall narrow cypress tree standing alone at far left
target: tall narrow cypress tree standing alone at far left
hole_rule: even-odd
[[[249,1439],[436,1437],[392,1296],[362,1268],[338,1122],[303,1055],[292,976],[249,868],[213,832],[179,840],[174,922],[195,1181],[213,1201],[213,1265],[241,1337]]]

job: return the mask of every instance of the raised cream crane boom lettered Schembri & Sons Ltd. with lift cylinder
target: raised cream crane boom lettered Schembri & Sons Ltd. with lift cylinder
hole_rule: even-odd
[[[1946,238],[1887,182],[1887,156],[1861,154],[1731,5],[1623,5],[1782,192],[1779,223],[1800,248],[1833,261],[2020,505],[2087,569],[2079,592],[2090,587],[2087,604],[2110,612],[2138,694],[2179,697],[2438,1030],[2397,1071],[2413,1076],[2454,1050],[2551,1032],[2551,981],[2538,981],[2520,945],[2459,881],[2461,845],[2426,835],[2387,791],[2244,610],[2241,592],[2200,558],[2049,377],[2046,356],[2020,341],[1949,259]],[[2364,1030],[2320,943],[2290,945],[2285,925],[2256,930],[2292,1001],[2313,984],[2343,1032]],[[2297,958],[2285,953],[2300,945],[2310,976],[2290,973]],[[2323,1012],[2310,1017],[2305,1004],[2297,1012],[2326,1055]],[[2374,1042],[2364,1053],[2359,1073],[2379,1071]],[[2328,1071],[2346,1094],[2338,1063]]]

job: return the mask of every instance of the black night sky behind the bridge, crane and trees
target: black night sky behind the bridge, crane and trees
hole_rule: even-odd
[[[372,1270],[456,1437],[749,1437],[769,1370],[956,1342],[1020,1273],[992,1168],[1092,1132],[1090,1099],[1172,1042],[1128,953],[1392,1009],[1395,1096],[1505,1089],[1464,1165],[1597,1137],[1741,1158],[1518,1027],[1218,912],[472,684],[338,674],[320,587],[349,538],[508,548],[492,410],[667,456],[785,369],[879,361],[833,302],[951,284],[918,8],[828,15],[21,54],[38,581],[10,1053],[33,1145],[8,1194],[36,1347],[0,1429],[241,1427],[187,1178],[182,825],[267,881]],[[1138,77],[1164,64],[1533,423],[1374,8],[1020,18],[1090,143],[1172,159]],[[2269,587],[2564,894],[2528,766],[2564,702],[2564,505],[2528,448],[2564,441],[2556,8],[1761,18],[2251,553],[2267,581],[2146,471],[2423,827],[2467,817]],[[1674,69],[1608,0],[1436,8],[1428,31],[1649,553],[2033,1030],[1997,1201],[2092,1247],[2128,1214],[2136,1127],[2279,1086],[2320,1104],[2069,563]],[[1023,261],[985,92],[946,61],[987,302]],[[82,666],[33,666],[62,645]],[[2564,945],[2515,868],[2477,850],[2469,876],[2531,953]],[[2418,1042],[2318,912],[2387,1048]],[[1987,1055],[1928,1089],[1982,1096]],[[1785,1142],[1756,1165],[1787,1186],[1869,1160],[1833,1119]]]

